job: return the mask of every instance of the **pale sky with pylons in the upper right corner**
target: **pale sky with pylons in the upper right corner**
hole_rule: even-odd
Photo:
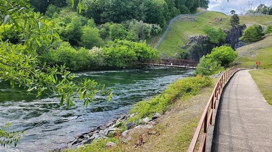
[[[266,5],[266,6],[272,6],[272,0],[250,0],[250,3],[253,2],[253,8],[257,8],[257,6],[260,5],[260,2]],[[210,0],[210,5],[208,10],[210,11],[218,11],[221,12],[221,8],[224,8],[224,12],[230,12],[231,10],[235,10],[237,14],[240,13],[241,7],[245,8],[246,10],[249,9],[249,1],[248,0]]]

